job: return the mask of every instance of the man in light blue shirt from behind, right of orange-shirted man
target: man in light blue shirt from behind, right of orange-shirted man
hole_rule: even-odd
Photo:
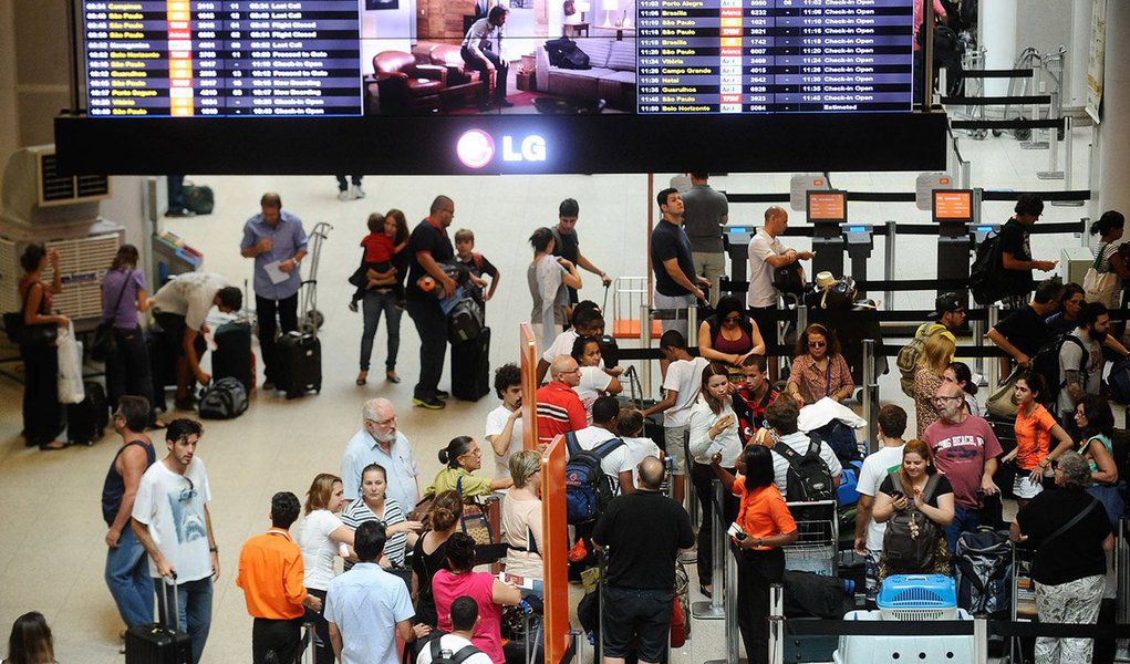
[[[412,628],[408,586],[377,565],[384,551],[384,526],[367,521],[357,526],[354,550],[360,562],[334,577],[325,591],[325,620],[333,654],[342,664],[398,664],[397,636],[406,641],[432,630]]]

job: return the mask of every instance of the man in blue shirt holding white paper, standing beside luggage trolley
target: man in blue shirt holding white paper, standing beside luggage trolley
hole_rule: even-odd
[[[278,370],[275,335],[298,329],[298,263],[306,256],[306,231],[302,219],[282,211],[279,194],[268,192],[259,201],[262,212],[243,225],[240,250],[255,259],[255,315],[259,347],[263,352],[263,390],[273,390]],[[277,317],[277,321],[276,321]]]

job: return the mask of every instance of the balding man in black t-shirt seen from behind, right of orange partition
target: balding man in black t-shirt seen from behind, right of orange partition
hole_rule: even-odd
[[[675,191],[675,190],[671,190]],[[605,658],[623,661],[636,640],[642,664],[667,650],[675,599],[675,559],[694,545],[695,533],[683,507],[659,492],[663,462],[640,462],[635,492],[614,498],[592,531],[592,543],[607,549]]]

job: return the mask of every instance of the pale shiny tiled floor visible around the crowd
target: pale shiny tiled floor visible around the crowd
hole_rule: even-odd
[[[1090,130],[1076,130],[1076,186],[1086,183],[1087,143]],[[689,139],[688,137],[688,140]],[[970,141],[962,150],[973,161],[974,182],[989,189],[1054,189],[1060,183],[1035,180],[1045,152],[1023,151],[1008,137]],[[910,191],[913,173],[832,174],[835,186],[862,191]],[[657,189],[669,174],[657,177]],[[399,410],[400,427],[412,442],[426,484],[438,470],[436,452],[453,436],[481,436],[486,413],[496,405],[493,395],[478,403],[453,402],[445,411],[410,407],[411,385],[418,367],[417,335],[407,317],[401,325],[402,348],[399,385],[380,373],[365,387],[354,385],[360,316],[347,311],[351,287],[346,277],[357,257],[357,242],[365,218],[373,210],[401,208],[415,222],[427,212],[436,194],[455,201],[452,230],[476,231],[477,250],[502,271],[502,285],[488,305],[493,327],[492,366],[515,358],[518,322],[528,320],[530,298],[525,268],[532,252],[531,230],[556,222],[557,204],[567,196],[581,204],[579,231],[582,251],[612,276],[642,276],[645,269],[645,227],[653,209],[646,177],[537,176],[537,177],[370,177],[368,196],[339,202],[332,177],[198,177],[216,190],[216,212],[208,217],[176,220],[167,228],[203,251],[205,268],[236,283],[251,276],[251,262],[238,253],[243,220],[258,210],[259,196],[268,190],[281,193],[285,208],[299,215],[308,229],[325,221],[333,226],[325,243],[318,274],[319,308],[325,314],[322,330],[323,390],[319,395],[286,401],[273,394],[254,395],[251,410],[233,421],[209,421],[199,454],[207,462],[214,490],[211,514],[220,547],[223,575],[216,588],[211,638],[206,662],[244,662],[250,656],[251,619],[243,595],[234,586],[240,545],[268,525],[270,496],[278,490],[303,495],[318,472],[338,472],[346,440],[360,422],[362,401],[386,396]],[[789,174],[730,175],[716,177],[718,189],[731,192],[783,192]],[[733,206],[732,221],[759,222],[763,206]],[[988,203],[985,219],[1003,221],[1010,206]],[[858,220],[883,222],[896,219],[927,222],[928,212],[910,204],[852,204]],[[1086,215],[1080,208],[1045,210],[1045,221],[1064,221]],[[802,212],[793,212],[794,224]],[[1058,257],[1058,248],[1078,241],[1063,236],[1035,236],[1037,257]],[[798,241],[796,246],[807,243]],[[880,274],[883,243],[870,262]],[[932,242],[928,237],[899,241],[899,278],[928,278],[935,272]],[[605,297],[596,277],[585,274],[584,297]],[[932,296],[903,296],[899,307],[929,307]],[[611,300],[608,303],[611,305]],[[384,359],[385,333],[377,334],[374,367]],[[442,386],[447,385],[445,377]],[[883,381],[883,397],[905,402],[893,376]],[[25,449],[19,438],[19,385],[0,378],[0,630],[20,613],[42,611],[51,622],[60,662],[90,664],[120,662],[120,619],[102,580],[105,560],[104,525],[98,496],[106,466],[118,442],[107,436],[93,447],[60,453]],[[692,566],[693,567],[693,566]],[[696,587],[696,583],[692,582]],[[698,600],[693,593],[693,600]],[[696,624],[688,648],[676,658],[702,662],[724,656],[722,624]],[[2,648],[3,646],[0,646]]]

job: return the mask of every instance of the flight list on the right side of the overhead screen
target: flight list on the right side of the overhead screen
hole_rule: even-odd
[[[640,113],[911,111],[914,0],[638,0]]]

